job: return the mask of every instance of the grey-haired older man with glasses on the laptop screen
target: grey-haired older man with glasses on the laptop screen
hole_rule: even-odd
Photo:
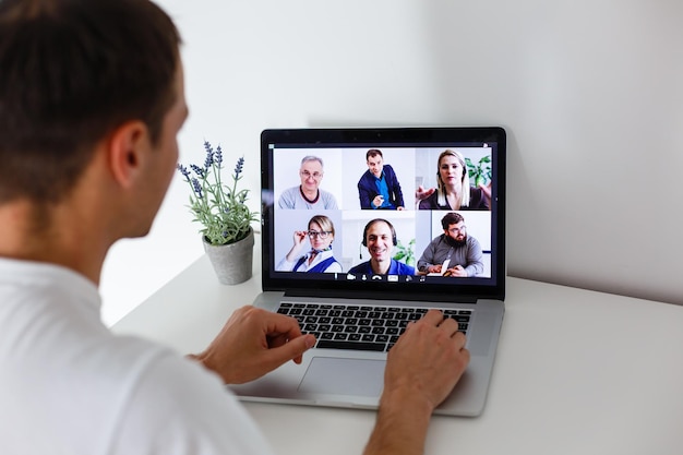
[[[283,191],[277,205],[280,208],[337,209],[337,201],[327,191],[321,190],[323,180],[323,160],[317,156],[304,156],[301,159],[299,177],[301,184]]]

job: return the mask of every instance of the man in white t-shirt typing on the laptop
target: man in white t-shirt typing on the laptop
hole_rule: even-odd
[[[0,453],[273,453],[224,384],[300,361],[295,320],[242,308],[189,358],[100,322],[107,251],[175,173],[179,41],[147,0],[0,2]],[[368,454],[423,448],[469,361],[454,324],[429,312],[395,345]]]

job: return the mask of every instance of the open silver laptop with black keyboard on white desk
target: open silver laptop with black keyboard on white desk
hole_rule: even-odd
[[[505,131],[265,130],[261,164],[254,306],[297,318],[317,344],[302,364],[230,388],[243,400],[375,409],[386,352],[438,308],[466,333],[471,361],[435,414],[480,415],[504,314]],[[431,192],[454,179],[469,201]]]

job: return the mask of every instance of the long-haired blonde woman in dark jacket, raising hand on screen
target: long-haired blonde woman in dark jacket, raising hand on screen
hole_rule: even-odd
[[[420,209],[488,211],[491,208],[491,188],[469,185],[465,157],[446,149],[436,160],[436,191],[418,188],[416,199]]]

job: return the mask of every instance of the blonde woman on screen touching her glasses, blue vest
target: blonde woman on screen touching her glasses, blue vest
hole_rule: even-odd
[[[301,254],[305,238],[309,238],[311,249]],[[342,264],[334,259],[332,241],[334,240],[334,224],[325,215],[315,215],[309,220],[309,230],[296,230],[295,244],[289,253],[275,267],[278,272],[342,272]]]

